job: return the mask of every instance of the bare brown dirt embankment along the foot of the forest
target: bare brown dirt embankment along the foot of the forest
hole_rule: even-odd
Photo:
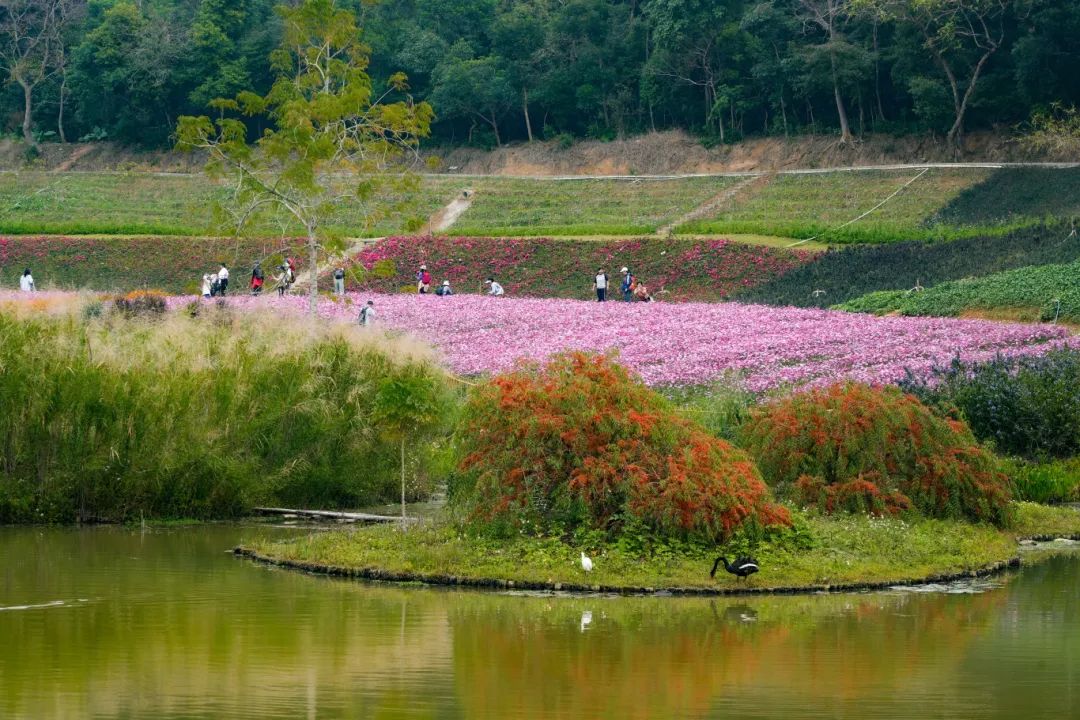
[[[191,173],[202,167],[198,153],[144,152],[113,142],[42,144],[27,163],[25,146],[0,141],[0,169],[131,171]],[[937,162],[1076,162],[1076,158],[1034,157],[1015,138],[995,133],[968,137],[957,153],[940,138],[867,135],[842,146],[834,136],[755,138],[735,145],[704,147],[678,131],[649,133],[623,140],[584,140],[568,148],[557,142],[516,144],[492,151],[430,148],[442,172],[476,175],[681,175],[775,172],[799,168]]]

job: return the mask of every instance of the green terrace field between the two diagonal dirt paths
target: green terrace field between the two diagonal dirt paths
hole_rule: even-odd
[[[465,179],[465,178],[462,178]],[[741,178],[478,178],[456,235],[635,235],[656,232]]]

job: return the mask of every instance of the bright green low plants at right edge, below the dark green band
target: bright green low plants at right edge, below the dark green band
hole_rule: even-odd
[[[1012,312],[1017,320],[1080,323],[1080,261],[1034,266],[942,283],[920,291],[881,290],[837,305],[876,314],[959,315]]]

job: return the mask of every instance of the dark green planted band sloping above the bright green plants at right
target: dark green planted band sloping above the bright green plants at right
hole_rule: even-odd
[[[826,308],[879,290],[929,288],[947,281],[1078,258],[1080,234],[1072,233],[1070,222],[1058,221],[949,242],[829,250],[735,297],[748,302]]]

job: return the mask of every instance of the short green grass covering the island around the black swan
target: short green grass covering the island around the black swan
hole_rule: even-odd
[[[754,576],[753,585],[775,588],[917,581],[1008,561],[1016,555],[1017,536],[1080,532],[1080,512],[1071,508],[1021,503],[1017,514],[1017,528],[1002,532],[955,521],[796,513],[797,532],[755,551],[761,572]],[[437,521],[407,530],[379,526],[316,532],[283,542],[258,541],[247,549],[279,561],[414,576],[657,589],[733,588],[739,582],[727,573],[717,573],[715,581],[708,578],[718,553],[713,548],[654,547],[646,553],[615,545],[577,547],[558,539],[496,541],[471,536]],[[592,573],[582,571],[580,551],[593,558]]]

